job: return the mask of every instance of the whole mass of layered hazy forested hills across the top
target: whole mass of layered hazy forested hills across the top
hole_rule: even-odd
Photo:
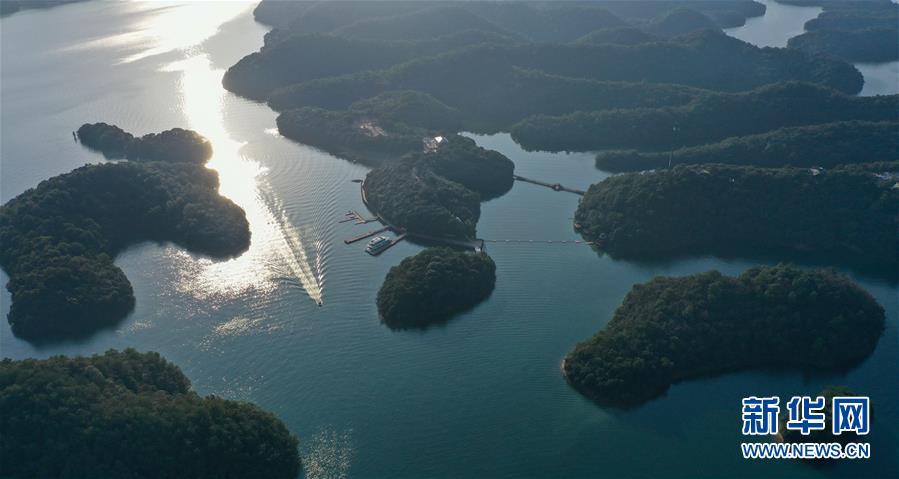
[[[223,81],[283,112],[285,136],[372,164],[408,149],[419,129],[511,130],[528,149],[560,151],[897,120],[897,98],[841,95],[863,84],[848,63],[721,31],[764,9],[749,1],[264,1],[256,18],[276,28]],[[387,134],[359,128],[369,122]]]

